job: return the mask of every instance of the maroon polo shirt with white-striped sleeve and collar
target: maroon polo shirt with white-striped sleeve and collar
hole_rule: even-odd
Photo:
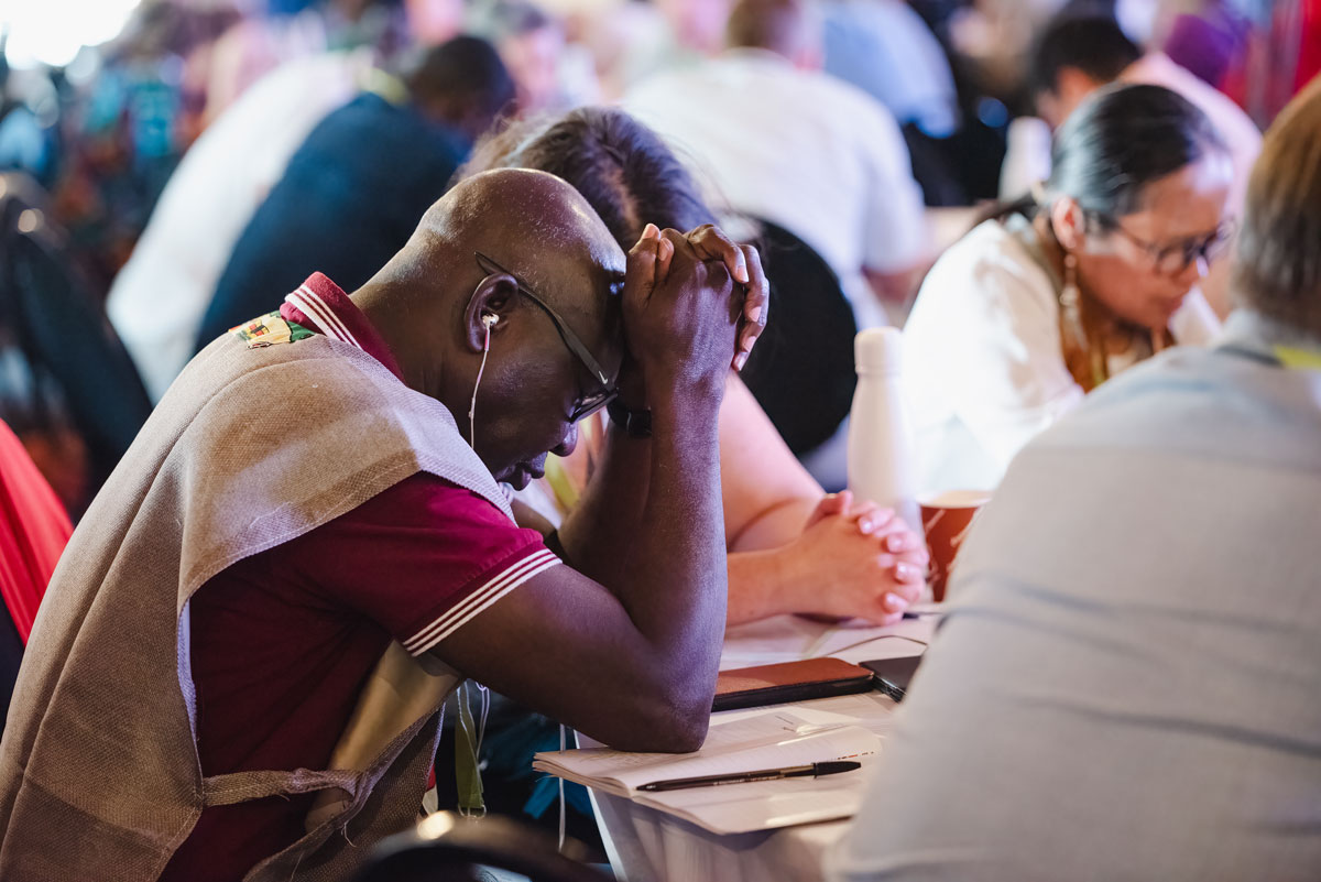
[[[403,379],[367,317],[321,273],[285,298],[280,316],[359,347]],[[287,405],[296,430],[296,390]],[[202,774],[325,768],[391,639],[425,652],[556,564],[538,532],[425,473],[234,564],[189,605]],[[312,799],[207,808],[161,879],[242,879],[303,836]]]

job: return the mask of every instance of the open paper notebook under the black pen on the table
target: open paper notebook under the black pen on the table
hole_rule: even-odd
[[[676,815],[712,833],[748,833],[851,817],[881,739],[857,720],[806,708],[770,708],[712,720],[692,754],[633,754],[606,747],[536,754],[532,767]],[[658,780],[727,775],[852,759],[857,771],[667,792],[641,792]]]

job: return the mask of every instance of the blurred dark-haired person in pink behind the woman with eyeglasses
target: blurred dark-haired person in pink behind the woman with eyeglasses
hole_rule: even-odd
[[[1234,178],[1227,211],[1238,217],[1252,162],[1262,149],[1262,133],[1242,108],[1168,55],[1143,53],[1112,17],[1066,15],[1042,32],[1033,51],[1030,90],[1038,114],[1052,128],[1058,129],[1087,95],[1111,82],[1164,86],[1206,114],[1229,148]],[[1024,161],[1013,149],[1011,145],[1005,157],[1007,169]],[[1214,261],[1199,288],[1217,314],[1226,316],[1229,260]]]

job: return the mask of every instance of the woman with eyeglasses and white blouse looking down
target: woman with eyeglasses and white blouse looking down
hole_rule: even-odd
[[[905,326],[922,492],[992,490],[1018,449],[1110,376],[1206,343],[1197,290],[1229,244],[1229,153],[1159,86],[1098,91],[1054,170],[937,261]]]

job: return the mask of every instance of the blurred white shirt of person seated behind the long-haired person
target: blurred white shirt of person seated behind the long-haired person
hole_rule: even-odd
[[[840,277],[859,327],[885,323],[863,268],[929,254],[922,191],[894,118],[865,92],[760,50],[659,74],[624,107],[691,160],[713,207],[770,220]]]

